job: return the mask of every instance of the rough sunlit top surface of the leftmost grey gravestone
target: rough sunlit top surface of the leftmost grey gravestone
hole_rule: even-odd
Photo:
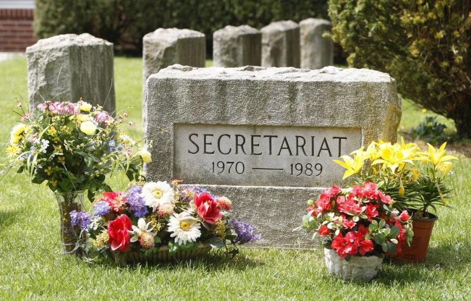
[[[37,50],[63,48],[63,47],[70,47],[70,46],[95,46],[95,45],[113,46],[113,43],[94,37],[89,33],[82,33],[80,35],[77,35],[75,33],[68,33],[68,34],[56,35],[47,39],[41,39],[36,44],[27,47],[26,53],[34,52]]]

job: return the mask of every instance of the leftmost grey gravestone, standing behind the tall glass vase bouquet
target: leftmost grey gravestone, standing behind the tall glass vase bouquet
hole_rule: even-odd
[[[26,48],[29,105],[83,98],[115,111],[113,44],[88,33],[61,34]]]

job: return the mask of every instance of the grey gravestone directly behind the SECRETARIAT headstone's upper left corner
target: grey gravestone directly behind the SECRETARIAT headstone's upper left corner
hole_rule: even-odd
[[[142,39],[142,118],[145,124],[145,87],[149,75],[173,64],[205,67],[205,34],[190,29],[158,28]]]

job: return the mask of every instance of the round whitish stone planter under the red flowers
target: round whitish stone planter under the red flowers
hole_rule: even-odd
[[[324,249],[327,270],[346,281],[369,281],[376,277],[384,257],[352,256],[346,261],[335,250]]]

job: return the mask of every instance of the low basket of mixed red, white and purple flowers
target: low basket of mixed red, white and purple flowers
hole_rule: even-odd
[[[180,188],[178,180],[136,182],[125,192],[105,192],[93,214],[73,212],[73,223],[94,239],[97,251],[118,265],[190,259],[211,248],[260,239],[246,221],[231,220],[232,203],[198,186]]]

